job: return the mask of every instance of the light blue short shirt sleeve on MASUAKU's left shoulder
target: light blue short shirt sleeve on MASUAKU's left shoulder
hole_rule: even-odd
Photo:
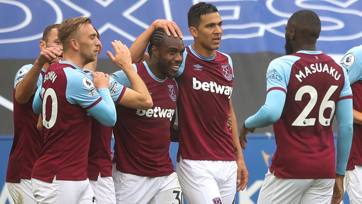
[[[287,92],[292,66],[299,59],[298,56],[286,55],[271,61],[266,72],[267,91],[276,88]]]

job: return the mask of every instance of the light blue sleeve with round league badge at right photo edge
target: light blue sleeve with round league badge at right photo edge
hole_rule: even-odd
[[[362,46],[354,47],[347,51],[340,62],[347,70],[350,84],[362,79]],[[346,77],[347,78],[347,77]]]

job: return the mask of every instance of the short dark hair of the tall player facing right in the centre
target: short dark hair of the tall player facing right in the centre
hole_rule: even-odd
[[[188,27],[198,27],[202,15],[218,12],[217,7],[211,3],[199,2],[190,7],[187,12]]]

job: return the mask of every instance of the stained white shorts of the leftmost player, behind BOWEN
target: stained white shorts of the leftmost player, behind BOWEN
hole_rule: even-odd
[[[20,183],[6,183],[6,186],[14,204],[36,204],[31,180],[20,179]]]

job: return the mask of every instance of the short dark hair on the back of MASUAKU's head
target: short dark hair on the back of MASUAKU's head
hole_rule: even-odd
[[[321,32],[321,20],[312,10],[298,10],[289,18],[289,22],[297,25],[305,36],[317,40]]]

